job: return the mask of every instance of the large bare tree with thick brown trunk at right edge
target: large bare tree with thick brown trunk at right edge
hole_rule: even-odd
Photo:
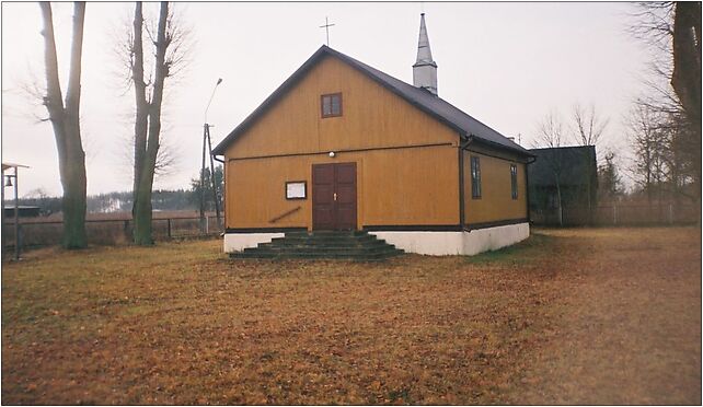
[[[675,199],[679,195],[689,196],[700,207],[701,3],[641,3],[634,18],[631,32],[655,51],[653,79],[646,83],[649,93],[636,103],[660,116],[657,133],[666,140],[657,146],[667,148],[666,165],[661,167],[669,174],[668,183],[676,194]],[[638,155],[642,164],[643,156]],[[659,161],[650,164],[660,166]]]

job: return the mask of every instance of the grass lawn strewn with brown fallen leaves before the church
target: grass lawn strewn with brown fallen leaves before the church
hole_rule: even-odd
[[[701,404],[700,236],[372,265],[34,251],[2,268],[2,403]]]

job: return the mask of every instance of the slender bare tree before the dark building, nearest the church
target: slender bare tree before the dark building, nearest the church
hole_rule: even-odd
[[[550,154],[545,154],[549,167],[554,176],[556,186],[556,202],[560,226],[564,225],[564,210],[562,200],[562,174],[564,172],[562,152],[558,149],[564,141],[564,126],[555,112],[550,112],[538,126],[538,139],[535,147],[545,147],[554,149]]]

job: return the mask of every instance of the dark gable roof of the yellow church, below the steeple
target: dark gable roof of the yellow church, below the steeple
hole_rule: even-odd
[[[234,128],[219,144],[212,150],[212,154],[221,155],[224,153],[226,148],[237,139],[249,126],[251,126],[266,109],[272,106],[278,97],[280,97],[288,89],[298,82],[318,61],[322,60],[325,56],[335,57],[357,71],[364,73],[368,78],[380,83],[391,92],[401,96],[415,107],[435,117],[437,120],[446,124],[462,135],[471,137],[477,142],[484,142],[499,149],[507,149],[517,152],[520,155],[531,156],[532,154],[519,146],[518,143],[509,140],[498,131],[476,120],[475,118],[463,113],[459,108],[451,105],[449,102],[435,96],[429,91],[422,88],[415,88],[410,83],[405,83],[395,79],[387,73],[371,68],[368,65],[360,62],[349,56],[336,51],[326,45],[318,49],[293,74],[291,74],[274,93],[270,94],[251,115],[249,115],[239,126]]]

